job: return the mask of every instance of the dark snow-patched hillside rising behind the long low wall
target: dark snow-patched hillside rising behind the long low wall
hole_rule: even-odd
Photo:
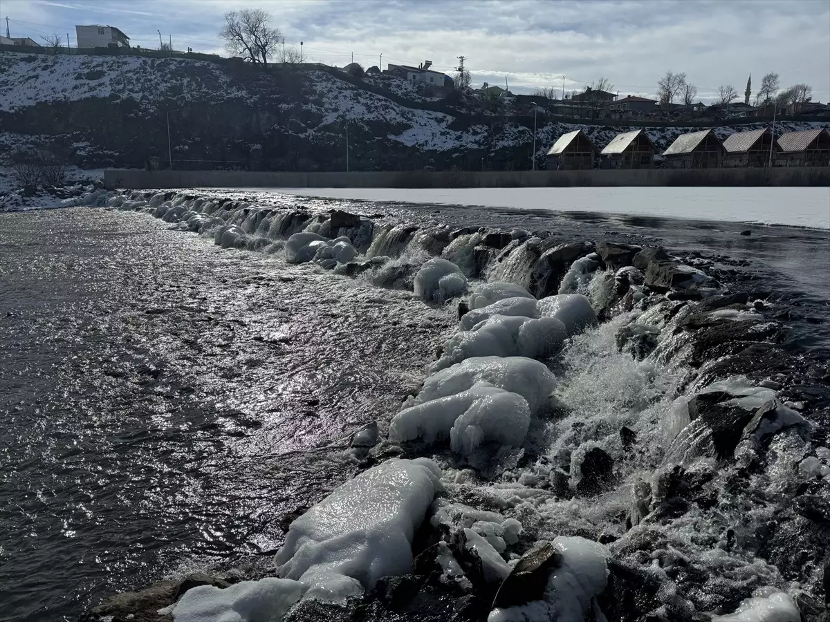
[[[17,147],[47,146],[81,168],[143,167],[151,156],[168,158],[168,110],[177,167],[247,168],[251,147],[260,145],[261,168],[343,170],[348,118],[354,170],[530,168],[532,117],[474,114],[463,100],[431,100],[385,75],[361,81],[330,68],[263,73],[182,58],[0,52],[6,158]],[[578,128],[599,148],[628,129],[553,123],[540,115],[537,162],[544,166],[550,144]],[[647,133],[662,149],[696,129]],[[715,131],[724,138],[737,129]]]

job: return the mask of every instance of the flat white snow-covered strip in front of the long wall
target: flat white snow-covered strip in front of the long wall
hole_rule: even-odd
[[[306,197],[548,211],[597,211],[830,229],[826,187],[281,188]]]

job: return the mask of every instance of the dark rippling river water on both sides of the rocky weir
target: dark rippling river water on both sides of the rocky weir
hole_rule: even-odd
[[[267,200],[749,260],[815,319],[794,321],[792,346],[830,346],[827,231]],[[140,213],[0,215],[0,620],[75,620],[115,591],[270,554],[281,518],[354,474],[350,435],[417,390],[455,320]]]

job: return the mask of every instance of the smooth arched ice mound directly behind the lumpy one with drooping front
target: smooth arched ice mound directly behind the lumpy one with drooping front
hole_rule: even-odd
[[[473,357],[428,377],[413,404],[452,396],[486,382],[524,397],[530,412],[543,406],[556,388],[556,378],[543,363],[525,357]]]

